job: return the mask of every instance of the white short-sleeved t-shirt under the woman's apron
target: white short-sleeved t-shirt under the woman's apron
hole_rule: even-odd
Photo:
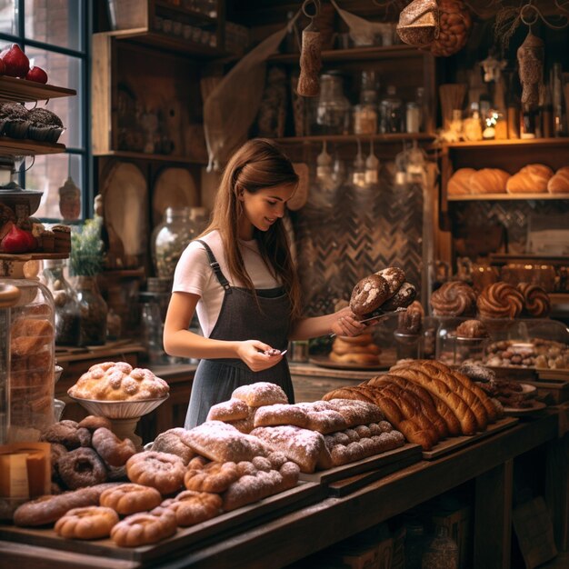
[[[233,275],[229,274],[225,261],[224,246],[219,232],[212,231],[201,237],[201,239],[210,246],[229,284],[232,286],[245,286],[245,284],[235,281]],[[255,239],[253,241],[239,240],[239,248],[241,255],[243,255],[245,270],[251,278],[255,289],[275,288],[275,286],[280,285],[263,262]],[[193,241],[185,248],[175,267],[172,292],[199,294],[200,300],[197,302],[195,311],[202,332],[205,337],[209,337],[221,311],[225,290],[219,284],[214,269],[209,265],[205,247],[201,243]]]

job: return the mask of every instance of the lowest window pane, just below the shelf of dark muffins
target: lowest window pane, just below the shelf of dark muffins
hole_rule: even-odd
[[[85,197],[83,185],[83,161],[81,155],[40,155],[35,157],[34,165],[25,173],[25,187],[30,190],[41,190],[42,203],[35,217],[62,219],[59,211],[59,187],[71,176],[75,185],[81,188]],[[27,166],[29,159],[26,159]]]

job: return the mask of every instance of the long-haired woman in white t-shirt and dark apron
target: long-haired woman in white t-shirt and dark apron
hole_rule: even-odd
[[[349,308],[301,316],[300,285],[283,216],[298,176],[271,142],[250,140],[231,158],[210,225],[181,256],[165,320],[168,354],[200,358],[185,428],[205,421],[210,407],[236,387],[279,384],[294,403],[289,340],[356,335],[366,328]],[[204,336],[188,326],[197,311]]]

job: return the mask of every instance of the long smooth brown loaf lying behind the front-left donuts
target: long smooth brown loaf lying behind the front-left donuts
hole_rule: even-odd
[[[99,497],[115,484],[96,484],[64,494],[45,495],[19,506],[14,513],[15,525],[35,527],[53,524],[72,508],[98,505]]]

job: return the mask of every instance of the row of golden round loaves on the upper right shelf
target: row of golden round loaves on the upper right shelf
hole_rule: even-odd
[[[459,168],[450,177],[448,195],[569,194],[569,166],[556,172],[548,165],[528,164],[514,175],[500,168]]]

